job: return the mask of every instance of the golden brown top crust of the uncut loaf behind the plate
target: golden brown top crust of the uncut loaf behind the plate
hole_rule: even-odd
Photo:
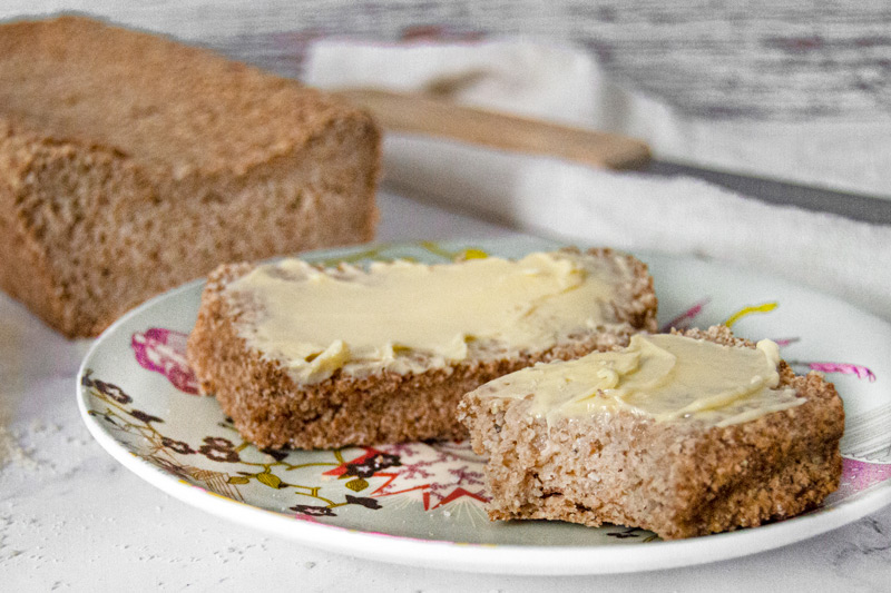
[[[339,120],[371,121],[293,80],[84,17],[4,24],[0,57],[7,117],[178,178],[245,175]]]

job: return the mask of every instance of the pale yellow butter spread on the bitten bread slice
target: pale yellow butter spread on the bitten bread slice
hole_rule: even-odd
[[[657,422],[727,426],[804,403],[794,389],[777,388],[779,363],[768,339],[752,349],[637,334],[623,350],[538,364],[487,383],[478,394],[531,398],[530,413],[549,423],[625,409]]]

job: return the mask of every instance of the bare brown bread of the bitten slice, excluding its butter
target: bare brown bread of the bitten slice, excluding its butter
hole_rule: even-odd
[[[685,335],[754,346],[725,327]],[[459,415],[489,457],[489,517],[613,523],[676,540],[813,508],[841,477],[842,402],[817,374],[795,376],[781,363],[780,375],[804,404],[713,428],[624,412],[548,427],[528,399],[468,394]]]

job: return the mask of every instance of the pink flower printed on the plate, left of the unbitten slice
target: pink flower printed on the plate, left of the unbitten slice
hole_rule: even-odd
[[[198,379],[186,362],[188,334],[150,327],[133,335],[130,346],[136,362],[145,369],[160,373],[180,392],[198,394]]]

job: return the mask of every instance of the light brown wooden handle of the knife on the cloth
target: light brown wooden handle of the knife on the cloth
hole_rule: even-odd
[[[344,89],[337,95],[366,109],[384,129],[393,131],[559,157],[609,169],[636,169],[650,159],[645,142],[616,134],[376,89]]]

